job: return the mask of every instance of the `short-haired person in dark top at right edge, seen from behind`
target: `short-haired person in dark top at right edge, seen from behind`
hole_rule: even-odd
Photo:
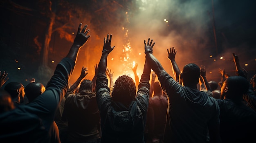
[[[225,99],[218,99],[220,106],[220,136],[222,143],[249,143],[255,140],[256,112],[243,102],[249,82],[241,76],[231,76],[221,88]]]

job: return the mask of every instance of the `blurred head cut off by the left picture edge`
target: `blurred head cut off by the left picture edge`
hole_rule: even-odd
[[[0,114],[15,108],[11,95],[5,90],[0,89]]]

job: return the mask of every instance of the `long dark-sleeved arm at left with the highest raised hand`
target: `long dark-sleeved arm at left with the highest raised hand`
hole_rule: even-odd
[[[82,31],[81,26],[82,24],[80,23],[78,33],[76,34],[69,53],[56,66],[54,75],[48,82],[45,92],[27,105],[31,107],[27,108],[28,112],[33,112],[38,118],[42,119],[45,130],[48,131],[54,121],[56,109],[68,89],[68,81],[74,70],[79,50],[90,37],[90,35],[87,35],[89,30],[85,31],[87,25]],[[45,114],[47,114],[47,116],[45,116]]]

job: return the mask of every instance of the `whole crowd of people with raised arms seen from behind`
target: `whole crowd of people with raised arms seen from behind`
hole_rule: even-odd
[[[108,34],[93,79],[85,79],[88,69],[83,66],[81,75],[69,86],[77,55],[90,38],[89,32],[87,25],[82,29],[79,24],[69,53],[58,63],[46,86],[35,81],[25,87],[9,82],[3,89],[8,74],[0,72],[1,143],[255,141],[256,74],[247,79],[236,53],[232,54],[237,75],[229,76],[225,69],[219,69],[221,81],[217,83],[207,81],[204,66],[188,63],[180,70],[175,62],[177,51],[172,47],[167,49],[172,77],[153,55],[155,42],[148,38],[144,40],[141,79],[136,64],[132,67],[135,81],[129,75],[120,75],[114,82],[107,59],[115,46],[111,46],[112,35]]]

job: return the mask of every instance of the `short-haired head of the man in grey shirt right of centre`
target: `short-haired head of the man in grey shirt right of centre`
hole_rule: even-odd
[[[196,86],[199,82],[201,70],[196,64],[186,64],[180,72],[182,86]]]

